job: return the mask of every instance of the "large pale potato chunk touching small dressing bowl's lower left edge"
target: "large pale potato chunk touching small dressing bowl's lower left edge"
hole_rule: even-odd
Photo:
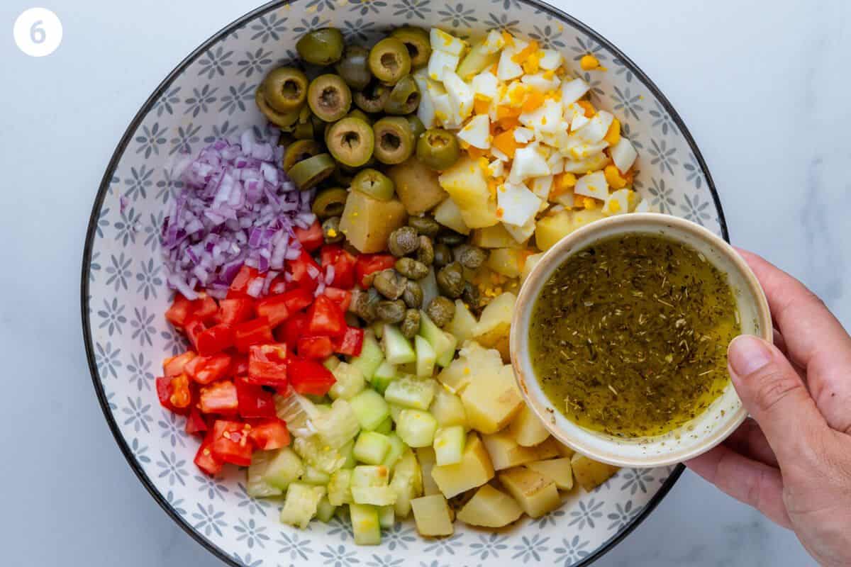
[[[504,428],[523,407],[514,372],[508,365],[490,380],[474,380],[461,394],[461,401],[470,427],[483,434]]]

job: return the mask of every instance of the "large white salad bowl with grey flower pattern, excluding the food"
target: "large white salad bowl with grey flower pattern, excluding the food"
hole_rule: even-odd
[[[183,418],[157,403],[161,360],[185,347],[163,318],[170,292],[158,243],[168,201],[180,190],[169,174],[175,156],[262,123],[254,88],[271,67],[293,58],[305,31],[338,26],[351,40],[369,42],[403,24],[461,35],[500,27],[562,50],[577,69],[583,54],[595,54],[608,71],[582,76],[595,103],[614,111],[640,152],[637,189],[663,213],[727,236],[709,172],[677,112],[631,60],[568,14],[536,0],[269,3],[226,26],[165,78],[106,168],[83,252],[83,333],[96,394],[151,496],[228,564],[589,564],[660,502],[682,467],[623,469],[591,494],[574,491],[561,509],[499,533],[458,525],[454,536],[425,540],[403,522],[380,547],[357,547],[346,522],[313,523],[306,531],[279,524],[277,504],[249,499],[236,468],[216,479],[199,473],[192,463],[196,439],[184,433]]]

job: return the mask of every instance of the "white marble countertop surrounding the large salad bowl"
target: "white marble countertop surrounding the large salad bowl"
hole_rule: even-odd
[[[734,244],[802,278],[851,326],[851,5],[555,3],[622,48],[677,107]],[[135,111],[254,3],[51,0],[65,37],[38,60],[12,41],[30,7],[0,3],[3,564],[218,564],[157,507],[111,438],[83,354],[79,269],[100,176]],[[790,532],[687,472],[598,564],[811,563]]]

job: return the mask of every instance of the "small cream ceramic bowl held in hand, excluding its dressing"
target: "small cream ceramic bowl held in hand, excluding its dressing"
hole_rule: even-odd
[[[733,433],[746,412],[733,387],[727,388],[705,411],[664,435],[624,439],[580,427],[554,408],[540,388],[528,353],[528,329],[534,302],[552,272],[575,252],[594,242],[624,234],[663,235],[702,253],[728,276],[733,288],[743,334],[772,340],[771,315],[757,277],[727,242],[683,218],[656,213],[610,217],[565,236],[546,252],[523,284],[511,321],[511,361],[528,405],[551,434],[575,451],[620,467],[649,468],[686,461],[709,451]]]

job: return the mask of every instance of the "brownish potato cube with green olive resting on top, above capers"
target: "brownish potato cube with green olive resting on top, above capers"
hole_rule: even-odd
[[[379,201],[360,191],[351,191],[340,218],[340,232],[359,252],[381,252],[387,238],[407,220],[402,201]]]

